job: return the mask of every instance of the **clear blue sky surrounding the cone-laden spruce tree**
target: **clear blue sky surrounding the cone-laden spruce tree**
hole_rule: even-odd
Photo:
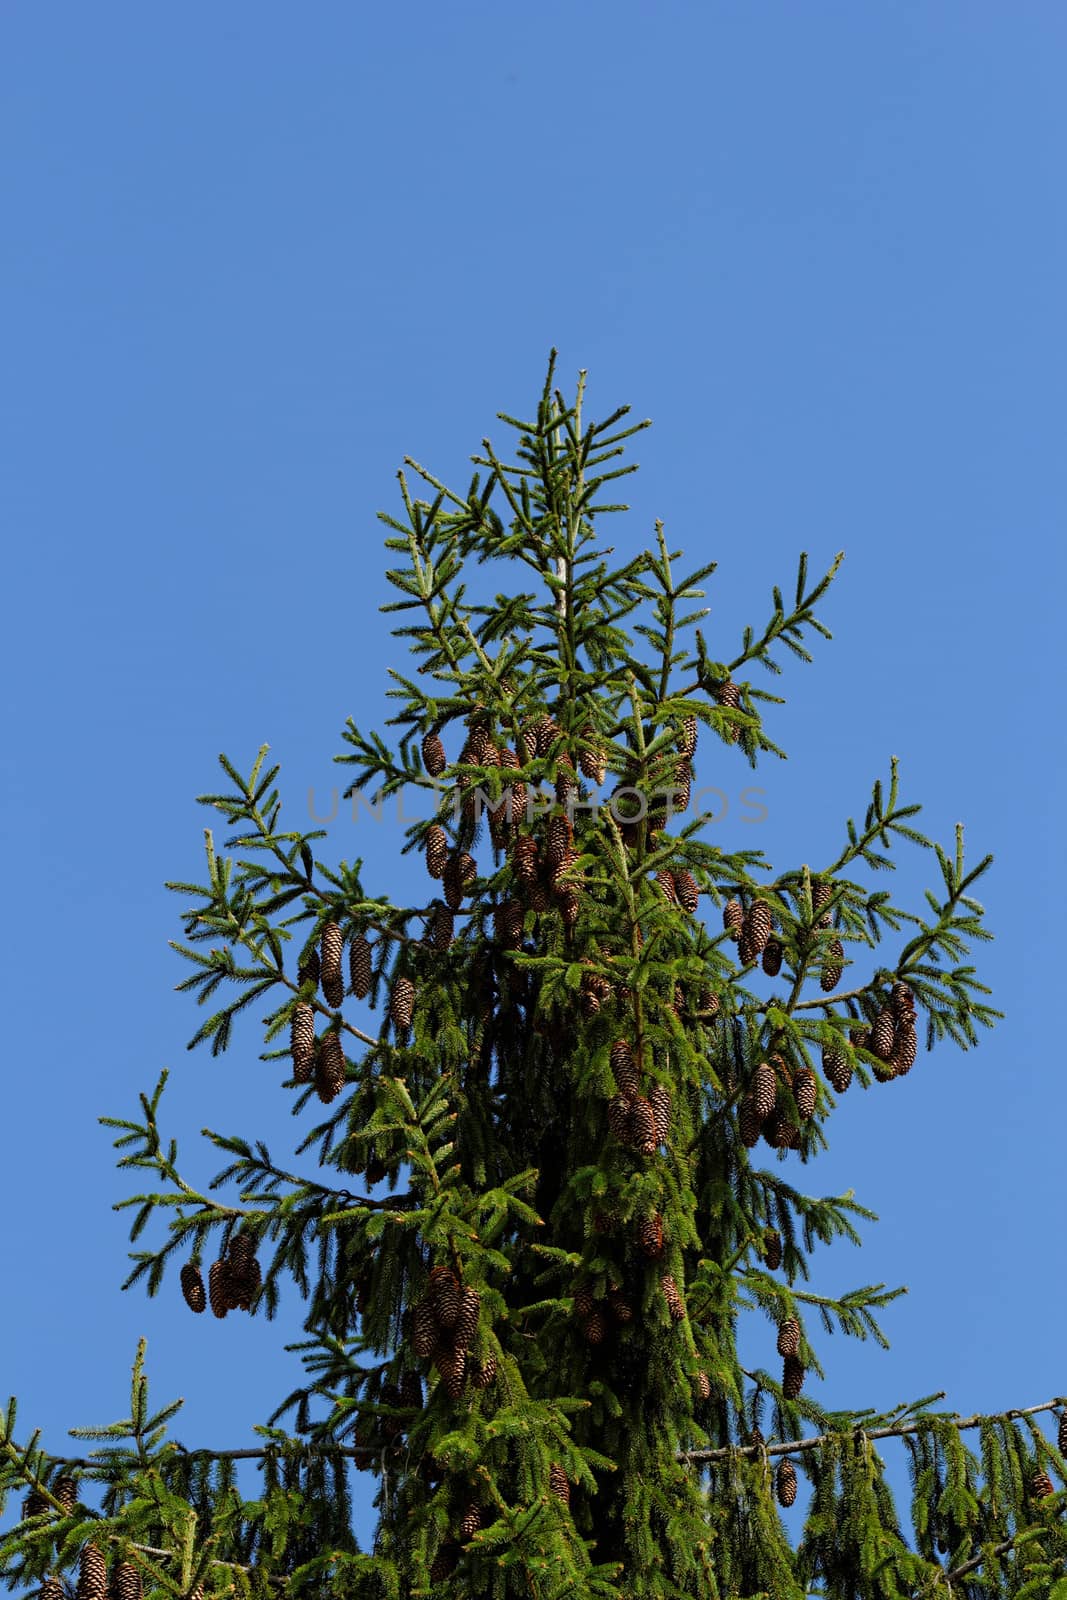
[[[718,560],[713,653],[800,549],[848,552],[771,722],[768,821],[721,840],[829,859],[896,754],[929,830],[997,853],[1005,1022],[849,1093],[806,1170],[881,1216],[816,1286],[910,1286],[891,1354],[824,1341],[819,1395],[1067,1389],[1065,51],[1051,0],[3,8],[0,1392],[26,1432],[59,1451],[122,1414],[142,1333],[187,1443],[248,1443],[296,1381],[294,1296],[216,1325],[176,1283],[118,1293],[133,1184],[96,1117],[170,1066],[195,1181],[205,1123],[290,1158],[256,1030],[186,1054],[162,885],[200,870],[216,752],[269,741],[299,819],[344,718],[381,725],[376,512],[405,453],[464,486],[553,344],[587,416],[653,418],[611,531],[661,517]],[[395,896],[398,843],[331,829]],[[897,877],[917,896],[921,862]]]

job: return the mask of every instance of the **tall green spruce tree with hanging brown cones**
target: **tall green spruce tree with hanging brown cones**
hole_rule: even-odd
[[[26,1496],[0,1541],[11,1587],[45,1600],[222,1594],[400,1600],[851,1600],[1067,1594],[1067,1422],[960,1418],[939,1397],[825,1413],[808,1390],[824,1334],[883,1341],[894,1293],[809,1288],[809,1258],[857,1242],[851,1197],[805,1168],[859,1086],[901,1086],[925,1051],[968,1048],[1000,1014],[969,965],[989,938],[968,867],[917,829],[896,763],[833,859],[774,869],[707,838],[705,752],[781,752],[779,698],[753,677],[809,659],[838,562],[739,640],[705,638],[704,582],[669,549],[616,560],[608,485],[645,422],[582,422],[553,389],[502,416],[466,493],[408,459],[382,515],[397,638],[390,736],[344,731],[354,794],[422,792],[406,851],[418,904],[379,862],[322,859],[282,822],[266,749],[203,797],[206,882],[184,898],[181,984],[210,1016],[194,1045],[251,1043],[302,1118],[318,1179],[250,1136],[210,1138],[202,1194],[160,1123],[165,1075],[134,1118],[102,1118],[131,1195],[125,1286],[182,1299],[190,1342],[306,1302],[301,1381],[256,1446],[197,1450],[152,1411],[144,1346],[130,1416],[72,1429],[86,1456],[19,1440],[0,1490]],[[501,592],[482,563],[507,574]],[[485,592],[482,592],[485,590]],[[901,846],[937,883],[883,888]],[[218,1002],[218,1010],[211,1010]],[[242,1013],[245,1013],[242,1016]],[[923,1054],[925,1054],[923,1051]],[[370,1194],[384,1186],[384,1192]],[[745,1365],[745,1310],[777,1330]],[[226,1330],[216,1320],[230,1318]],[[237,1326],[235,1326],[237,1322]],[[910,1456],[910,1530],[881,1442]],[[235,1461],[262,1486],[245,1499]],[[349,1470],[376,1482],[360,1550]],[[797,1510],[784,1520],[781,1509]],[[795,1518],[795,1520],[793,1520]]]

